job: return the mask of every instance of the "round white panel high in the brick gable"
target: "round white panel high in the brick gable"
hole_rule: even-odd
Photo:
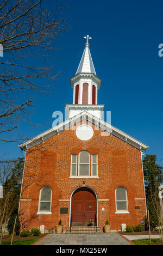
[[[76,136],[81,139],[82,141],[88,141],[92,138],[94,131],[91,126],[89,125],[80,125],[76,129]]]

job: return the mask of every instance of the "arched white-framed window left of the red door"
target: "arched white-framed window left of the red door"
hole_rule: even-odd
[[[44,186],[40,190],[39,212],[51,211],[51,203],[52,203],[52,189],[48,186]]]

